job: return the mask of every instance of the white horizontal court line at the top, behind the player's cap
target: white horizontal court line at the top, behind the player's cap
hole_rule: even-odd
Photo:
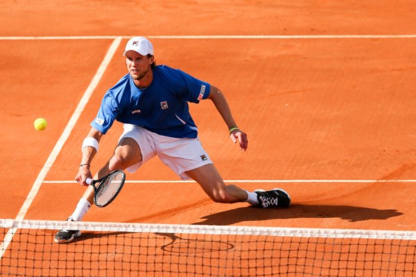
[[[0,40],[49,40],[49,39],[130,39],[132,36],[85,35],[0,37]],[[148,35],[149,39],[413,39],[416,35]]]

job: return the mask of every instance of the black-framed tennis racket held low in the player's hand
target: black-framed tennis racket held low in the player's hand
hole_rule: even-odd
[[[87,178],[86,183],[94,188],[94,204],[102,208],[116,198],[121,188],[123,188],[124,181],[125,173],[123,170],[114,170],[98,180]]]

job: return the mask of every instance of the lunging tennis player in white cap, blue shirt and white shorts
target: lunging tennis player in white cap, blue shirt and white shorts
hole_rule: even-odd
[[[146,37],[133,37],[125,46],[128,73],[109,89],[101,102],[91,130],[83,141],[83,157],[76,181],[84,186],[92,178],[90,165],[98,152],[98,143],[117,120],[123,123],[114,154],[94,179],[112,170],[135,172],[143,163],[157,156],[182,179],[200,184],[214,202],[248,202],[254,206],[288,207],[291,197],[279,188],[248,192],[225,185],[198,139],[198,128],[189,114],[188,102],[211,100],[229,129],[229,137],[248,147],[245,132],[237,127],[223,93],[214,85],[166,65],[156,65],[153,45]],[[92,206],[94,188],[88,186],[68,220],[82,220]],[[61,230],[55,242],[71,242],[80,231]]]

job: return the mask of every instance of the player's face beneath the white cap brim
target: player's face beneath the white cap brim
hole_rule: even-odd
[[[130,50],[125,53],[125,64],[132,78],[140,81],[150,70],[150,64],[153,64],[153,57],[140,55],[136,51]]]

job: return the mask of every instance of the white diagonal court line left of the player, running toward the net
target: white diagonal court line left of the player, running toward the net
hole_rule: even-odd
[[[60,150],[64,146],[64,143],[67,141],[69,134],[71,134],[71,131],[73,127],[75,127],[76,122],[78,121],[78,118],[80,118],[80,114],[85,109],[85,106],[87,105],[87,102],[89,98],[92,96],[92,93],[94,92],[94,89],[96,89],[98,82],[103,77],[103,74],[105,72],[105,69],[107,69],[108,64],[110,64],[110,61],[112,60],[112,57],[114,56],[114,53],[116,52],[117,48],[119,47],[121,42],[121,37],[116,37],[114,41],[112,42],[110,49],[108,49],[107,54],[104,57],[103,62],[101,62],[100,66],[98,67],[98,70],[96,74],[94,75],[94,78],[92,78],[92,81],[89,83],[89,86],[87,87],[87,90],[85,91],[83,98],[81,98],[80,102],[78,103],[78,107],[76,107],[75,111],[73,111],[73,114],[71,118],[69,119],[69,122],[67,123],[67,126],[65,127],[64,131],[62,132],[62,135],[58,139],[57,143],[55,144],[55,147],[53,148],[51,154],[49,154],[48,159],[46,160],[46,163],[44,164],[44,167],[42,170],[40,170],[39,175],[37,175],[37,178],[35,180],[35,183],[33,184],[31,191],[29,192],[28,196],[26,197],[26,200],[24,201],[23,205],[20,208],[19,213],[17,214],[16,220],[23,220],[26,213],[28,212],[29,207],[31,206],[33,199],[35,199],[37,193],[40,190],[40,186],[43,184],[44,179],[46,175],[48,174],[49,170],[51,169],[53,163],[55,162],[56,158],[58,157],[58,154],[60,153]],[[6,249],[8,248],[8,245],[12,241],[13,235],[16,233],[15,228],[9,229],[6,236],[4,237],[3,242],[1,242],[0,245],[0,260],[3,257],[4,253],[6,252]]]

